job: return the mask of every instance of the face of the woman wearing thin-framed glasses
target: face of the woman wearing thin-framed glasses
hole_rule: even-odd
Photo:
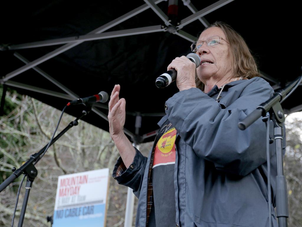
[[[226,40],[226,35],[218,27],[211,27],[206,29],[199,36],[199,41],[205,41],[208,38],[218,35]],[[223,77],[231,76],[232,62],[229,53],[229,44],[220,39],[219,44],[215,46],[208,46],[206,42],[196,51],[201,58],[201,64],[197,68],[197,75],[199,80],[204,84],[211,77],[211,79],[219,81]],[[207,63],[207,61],[209,63]],[[205,62],[205,63],[203,63]]]

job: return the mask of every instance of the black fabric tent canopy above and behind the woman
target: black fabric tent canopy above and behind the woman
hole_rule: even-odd
[[[245,38],[274,89],[299,76],[301,20],[295,8],[259,0],[5,2],[0,82],[58,109],[101,90],[110,94],[120,84],[127,102],[125,132],[147,142],[165,100],[178,91],[175,84],[156,88],[156,77],[175,57],[188,54],[198,33],[214,21],[225,21]],[[286,113],[302,110],[300,92],[282,104]],[[81,110],[69,107],[67,113]],[[96,104],[83,120],[108,130],[107,114],[105,104]]]

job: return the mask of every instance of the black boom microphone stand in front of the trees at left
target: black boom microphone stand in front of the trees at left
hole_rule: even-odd
[[[56,137],[54,137],[50,143],[50,146],[53,143],[55,143],[56,140],[58,140],[61,136],[63,136],[63,134],[66,133],[71,127],[78,125],[79,124],[78,120],[81,119],[83,116],[87,115],[91,111],[91,108],[92,108],[91,105],[88,106],[86,104],[86,108],[85,110],[83,110],[82,114],[79,117],[77,117],[76,120],[70,122],[63,131],[61,131]],[[14,173],[12,173],[11,176],[9,176],[2,184],[0,184],[0,192],[2,192],[10,183],[14,181],[14,179],[18,178],[22,173],[25,174],[25,176],[27,176],[25,195],[24,195],[23,205],[20,213],[18,227],[21,227],[23,225],[24,215],[26,211],[28,198],[29,198],[29,192],[33,185],[34,179],[38,175],[38,171],[34,166],[34,164],[36,163],[34,162],[40,159],[40,155],[43,154],[47,146],[48,143],[38,153],[31,155],[29,160],[27,160],[27,162],[24,163],[19,169],[16,170],[16,168],[13,168],[12,170],[14,171]]]

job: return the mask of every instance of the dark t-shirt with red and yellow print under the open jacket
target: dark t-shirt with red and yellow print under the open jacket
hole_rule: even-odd
[[[175,139],[176,129],[171,123],[159,131],[159,140],[154,151],[152,184],[157,227],[175,226]]]

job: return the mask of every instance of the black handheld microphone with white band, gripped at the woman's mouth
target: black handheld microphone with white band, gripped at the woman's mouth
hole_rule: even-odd
[[[200,57],[197,54],[190,53],[186,57],[195,63],[196,68],[200,65]],[[175,69],[170,69],[169,71],[157,77],[155,85],[158,88],[167,87],[169,84],[176,80],[176,77],[177,71]]]

